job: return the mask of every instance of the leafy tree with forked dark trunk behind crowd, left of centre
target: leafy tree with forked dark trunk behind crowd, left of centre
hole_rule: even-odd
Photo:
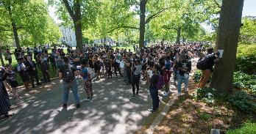
[[[73,24],[77,47],[82,51],[82,30],[94,23],[99,1],[49,0],[49,4],[57,7],[57,15],[64,21],[63,25],[70,26]]]

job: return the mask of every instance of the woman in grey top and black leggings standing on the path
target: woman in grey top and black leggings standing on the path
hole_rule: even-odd
[[[139,95],[140,90],[140,78],[141,78],[141,60],[135,59],[135,62],[132,67],[132,95],[130,97],[136,97]],[[136,86],[136,93],[135,93],[135,86]]]

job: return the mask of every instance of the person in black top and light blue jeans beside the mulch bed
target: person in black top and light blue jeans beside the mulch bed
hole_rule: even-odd
[[[188,92],[188,78],[189,72],[191,72],[191,61],[188,60],[188,56],[182,55],[180,61],[177,63],[178,73],[178,96],[181,94],[182,83],[185,84],[185,92]]]

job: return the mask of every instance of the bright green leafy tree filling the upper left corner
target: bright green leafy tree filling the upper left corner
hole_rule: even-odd
[[[0,20],[2,42],[10,44],[6,41],[14,37],[17,48],[60,39],[60,30],[42,0],[1,0]]]

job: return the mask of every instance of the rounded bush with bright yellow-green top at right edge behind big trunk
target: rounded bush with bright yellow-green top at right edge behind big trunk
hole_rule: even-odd
[[[256,74],[256,45],[239,45],[235,63],[236,71]]]

